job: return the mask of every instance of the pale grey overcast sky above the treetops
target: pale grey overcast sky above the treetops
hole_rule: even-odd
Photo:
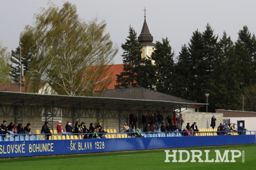
[[[79,17],[91,20],[98,16],[107,22],[107,32],[111,40],[119,46],[114,58],[115,64],[122,63],[121,44],[128,36],[129,25],[140,35],[146,21],[154,41],[168,37],[177,56],[184,43],[188,43],[192,33],[205,30],[207,23],[215,35],[223,32],[233,41],[237,33],[247,25],[250,32],[256,32],[256,0],[68,0],[77,7]],[[65,0],[53,0],[62,6]],[[0,0],[0,41],[8,50],[19,44],[20,32],[33,22],[33,15],[41,7],[47,8],[48,0]]]

